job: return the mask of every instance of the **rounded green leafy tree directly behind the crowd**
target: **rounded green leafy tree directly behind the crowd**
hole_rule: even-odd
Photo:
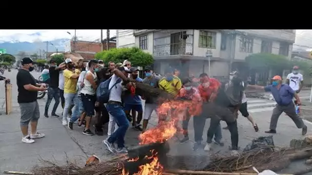
[[[132,65],[145,67],[153,63],[153,56],[139,48],[113,48],[95,54],[95,59],[101,59],[105,63],[109,61],[123,62],[128,59]]]

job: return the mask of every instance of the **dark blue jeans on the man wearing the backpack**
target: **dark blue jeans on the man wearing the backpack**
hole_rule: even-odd
[[[108,138],[109,143],[117,142],[119,148],[125,147],[125,135],[129,127],[129,120],[126,117],[124,108],[121,104],[107,104],[108,113],[113,116],[118,129]]]

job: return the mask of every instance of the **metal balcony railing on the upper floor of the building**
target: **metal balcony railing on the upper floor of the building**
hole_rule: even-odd
[[[170,55],[193,55],[193,44],[170,43],[169,45],[154,46],[153,55],[155,57]]]

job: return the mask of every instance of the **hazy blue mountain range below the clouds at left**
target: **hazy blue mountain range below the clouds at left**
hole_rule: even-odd
[[[61,52],[65,50],[65,45],[69,39],[55,39],[48,41],[48,52],[56,52],[56,49]],[[8,54],[18,55],[18,52],[24,51],[28,54],[38,54],[40,55],[40,50],[42,53],[47,50],[46,42],[0,42],[0,49],[6,49]]]

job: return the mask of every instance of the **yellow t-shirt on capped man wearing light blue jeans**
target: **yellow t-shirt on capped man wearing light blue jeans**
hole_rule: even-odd
[[[77,86],[77,79],[73,79],[70,78],[71,76],[73,76],[74,74],[80,74],[80,71],[75,69],[75,73],[73,73],[72,71],[69,70],[64,70],[63,72],[64,74],[64,93],[76,93],[76,86]]]

